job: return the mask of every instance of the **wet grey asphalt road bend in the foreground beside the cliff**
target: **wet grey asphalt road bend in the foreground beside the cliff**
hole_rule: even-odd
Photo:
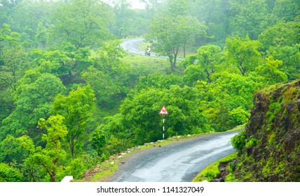
[[[234,150],[229,144],[235,132],[200,135],[175,144],[132,153],[108,181],[189,182],[210,163]]]

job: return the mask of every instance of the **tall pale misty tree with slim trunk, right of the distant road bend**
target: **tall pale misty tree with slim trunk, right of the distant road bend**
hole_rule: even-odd
[[[194,17],[161,14],[151,22],[146,39],[154,43],[158,55],[169,57],[171,69],[174,71],[179,49],[185,49],[186,44],[196,37],[204,36],[204,29],[204,25]]]

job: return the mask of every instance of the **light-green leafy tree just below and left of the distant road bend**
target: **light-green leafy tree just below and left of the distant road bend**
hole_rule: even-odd
[[[129,91],[130,69],[121,60],[125,52],[120,41],[108,41],[97,54],[94,66],[84,71],[82,78],[93,88],[98,104],[113,107]]]

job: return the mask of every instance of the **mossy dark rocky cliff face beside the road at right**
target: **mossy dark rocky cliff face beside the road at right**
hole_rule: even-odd
[[[300,181],[300,80],[254,95],[245,146],[231,180]]]

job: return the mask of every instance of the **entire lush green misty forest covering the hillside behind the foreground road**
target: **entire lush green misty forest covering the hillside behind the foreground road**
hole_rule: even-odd
[[[139,1],[0,0],[0,181],[81,179],[162,139],[163,105],[167,138],[224,132],[300,78],[299,0]],[[162,68],[130,61],[135,37]]]

